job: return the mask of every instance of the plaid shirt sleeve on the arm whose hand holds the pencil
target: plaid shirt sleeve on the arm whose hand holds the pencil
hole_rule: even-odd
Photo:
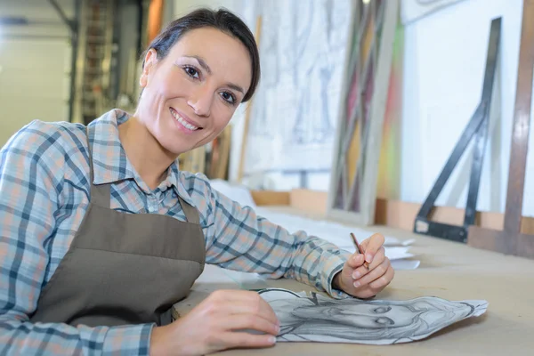
[[[333,289],[332,281],[351,255],[334,244],[304,231],[291,233],[271,223],[247,206],[211,189],[207,179],[195,178],[206,206],[206,263],[269,278],[292,278],[334,297],[347,296]]]

